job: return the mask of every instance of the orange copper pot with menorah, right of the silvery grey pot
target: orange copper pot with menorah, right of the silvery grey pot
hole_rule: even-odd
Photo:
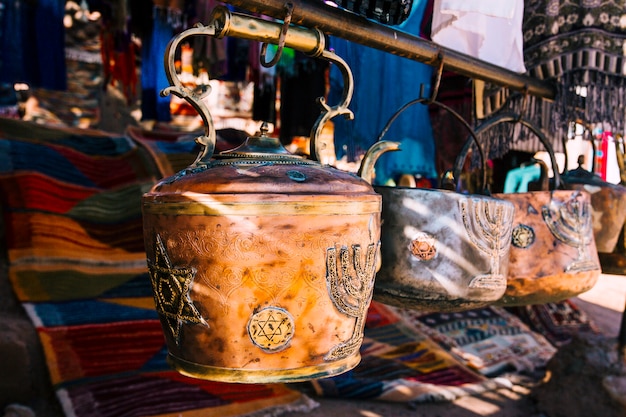
[[[519,123],[530,129],[557,167],[545,135],[527,120],[499,114],[476,128],[476,135],[501,123]],[[562,301],[591,289],[600,276],[591,219],[591,197],[584,190],[561,189],[553,169],[551,190],[494,194],[515,206],[509,275],[502,306]]]

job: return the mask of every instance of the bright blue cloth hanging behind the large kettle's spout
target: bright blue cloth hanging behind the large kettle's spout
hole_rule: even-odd
[[[413,2],[413,10],[400,30],[418,36],[426,0]],[[433,68],[429,65],[331,37],[331,47],[352,69],[354,95],[349,108],[354,120],[338,117],[335,123],[337,157],[365,152],[378,138],[387,121],[407,102],[420,97],[420,86],[429,94]],[[340,101],[343,79],[331,66],[329,104]],[[401,174],[436,178],[435,144],[428,107],[416,104],[398,117],[383,139],[401,142],[402,151],[383,154],[376,164],[376,184]]]

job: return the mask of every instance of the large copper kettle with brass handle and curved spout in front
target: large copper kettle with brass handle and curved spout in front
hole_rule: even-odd
[[[252,31],[253,33],[248,33]],[[289,28],[217,8],[213,22],[170,43],[172,87],[203,117],[204,151],[143,197],[144,234],[156,309],[179,372],[227,382],[294,382],[345,372],[360,361],[379,257],[381,197],[368,181],[287,152],[261,129],[240,147],[213,154],[215,130],[203,101],[173,68],[186,36],[241,35],[280,41],[330,60],[344,73],[344,100],[322,103],[311,133],[351,116],[352,75],[324,50],[319,31]],[[312,47],[310,47],[312,45]],[[370,150],[364,175],[377,156]]]

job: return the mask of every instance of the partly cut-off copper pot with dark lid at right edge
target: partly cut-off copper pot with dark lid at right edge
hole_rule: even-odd
[[[563,143],[565,149],[565,142]],[[604,181],[593,172],[579,166],[567,168],[561,174],[563,187],[568,190],[585,190],[591,196],[591,220],[598,252],[613,252],[626,221],[626,187]],[[567,158],[565,162],[567,167]]]

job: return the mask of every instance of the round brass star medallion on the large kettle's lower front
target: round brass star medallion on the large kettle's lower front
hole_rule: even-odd
[[[280,307],[266,307],[254,313],[248,321],[248,335],[252,343],[269,353],[286,348],[293,332],[293,317]]]

